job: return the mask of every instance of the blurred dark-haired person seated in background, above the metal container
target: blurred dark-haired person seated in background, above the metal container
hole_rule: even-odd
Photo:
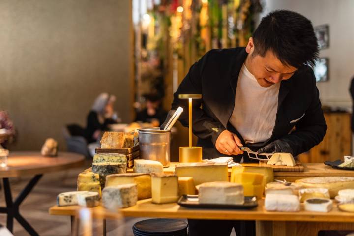
[[[159,127],[167,116],[167,112],[161,106],[161,98],[158,95],[144,95],[145,109],[137,113],[135,121],[152,123],[154,127]]]

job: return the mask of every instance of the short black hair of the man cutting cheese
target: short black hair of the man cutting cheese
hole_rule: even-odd
[[[314,66],[318,58],[317,38],[306,17],[287,10],[276,10],[262,18],[254,31],[254,55],[264,57],[268,50],[285,65]]]

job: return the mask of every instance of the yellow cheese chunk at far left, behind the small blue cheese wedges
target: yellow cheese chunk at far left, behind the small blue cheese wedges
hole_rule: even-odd
[[[77,191],[92,191],[102,195],[99,175],[91,171],[84,171],[78,175]]]

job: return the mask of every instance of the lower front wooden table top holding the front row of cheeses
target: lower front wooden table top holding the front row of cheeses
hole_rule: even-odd
[[[354,222],[354,213],[342,212],[333,203],[333,210],[328,213],[305,211],[301,204],[299,212],[270,212],[264,209],[264,200],[259,200],[258,207],[251,210],[235,209],[196,209],[181,207],[177,203],[153,204],[151,199],[139,200],[137,205],[121,209],[117,216],[124,217],[161,217],[217,220],[268,220],[268,221],[315,221],[315,222]],[[49,209],[51,215],[77,215],[79,206],[58,207]],[[102,211],[103,207],[91,210]],[[108,217],[112,217],[109,213]],[[107,217],[107,218],[108,218]]]

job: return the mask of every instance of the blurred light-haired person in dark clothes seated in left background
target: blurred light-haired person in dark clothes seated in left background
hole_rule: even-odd
[[[87,117],[85,138],[87,143],[97,142],[101,133],[108,129],[109,124],[117,123],[117,115],[113,110],[116,101],[114,95],[101,93],[93,103],[92,110]]]

